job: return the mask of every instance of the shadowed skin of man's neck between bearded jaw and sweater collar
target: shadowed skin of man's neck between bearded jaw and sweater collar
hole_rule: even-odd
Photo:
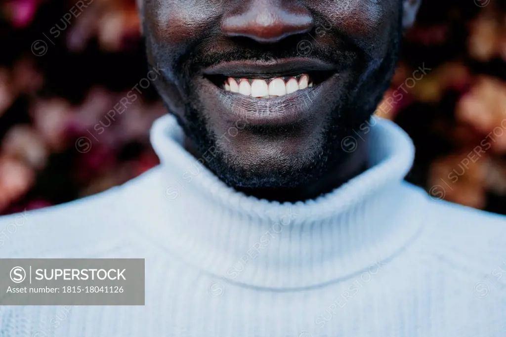
[[[330,170],[319,177],[317,180],[297,187],[276,187],[276,188],[244,188],[232,186],[235,190],[249,196],[259,199],[279,202],[296,202],[300,200],[315,199],[320,195],[331,192],[348,182],[353,177],[363,173],[368,166],[368,134],[360,135],[364,141],[357,145],[357,148],[350,153],[346,153],[343,160],[336,163]],[[185,149],[195,158],[201,158],[201,155],[193,146],[193,143],[185,136]],[[206,162],[206,161],[204,161]]]

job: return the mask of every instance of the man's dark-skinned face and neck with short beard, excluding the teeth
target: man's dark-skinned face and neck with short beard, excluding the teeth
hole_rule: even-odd
[[[139,0],[148,60],[163,73],[155,85],[185,147],[229,186],[278,201],[315,198],[367,168],[367,121],[418,6]],[[314,87],[272,99],[223,87],[229,77],[297,74],[309,74]]]

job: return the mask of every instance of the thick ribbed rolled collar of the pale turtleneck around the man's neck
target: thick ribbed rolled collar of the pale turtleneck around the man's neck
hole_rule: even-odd
[[[421,207],[402,183],[414,147],[393,122],[370,124],[368,170],[317,199],[279,203],[237,192],[199,165],[165,115],[151,130],[165,198],[148,231],[202,271],[255,287],[322,285],[388,260],[419,228]]]

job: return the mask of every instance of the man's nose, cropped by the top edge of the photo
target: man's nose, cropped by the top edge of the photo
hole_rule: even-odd
[[[287,36],[311,31],[313,16],[297,2],[250,0],[231,9],[222,19],[226,36],[242,36],[259,43],[275,43]]]

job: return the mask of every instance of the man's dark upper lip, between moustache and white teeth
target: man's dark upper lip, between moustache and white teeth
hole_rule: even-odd
[[[222,62],[203,70],[205,75],[224,75],[236,78],[270,78],[295,76],[315,71],[335,71],[336,65],[310,58],[290,58],[272,61]]]

